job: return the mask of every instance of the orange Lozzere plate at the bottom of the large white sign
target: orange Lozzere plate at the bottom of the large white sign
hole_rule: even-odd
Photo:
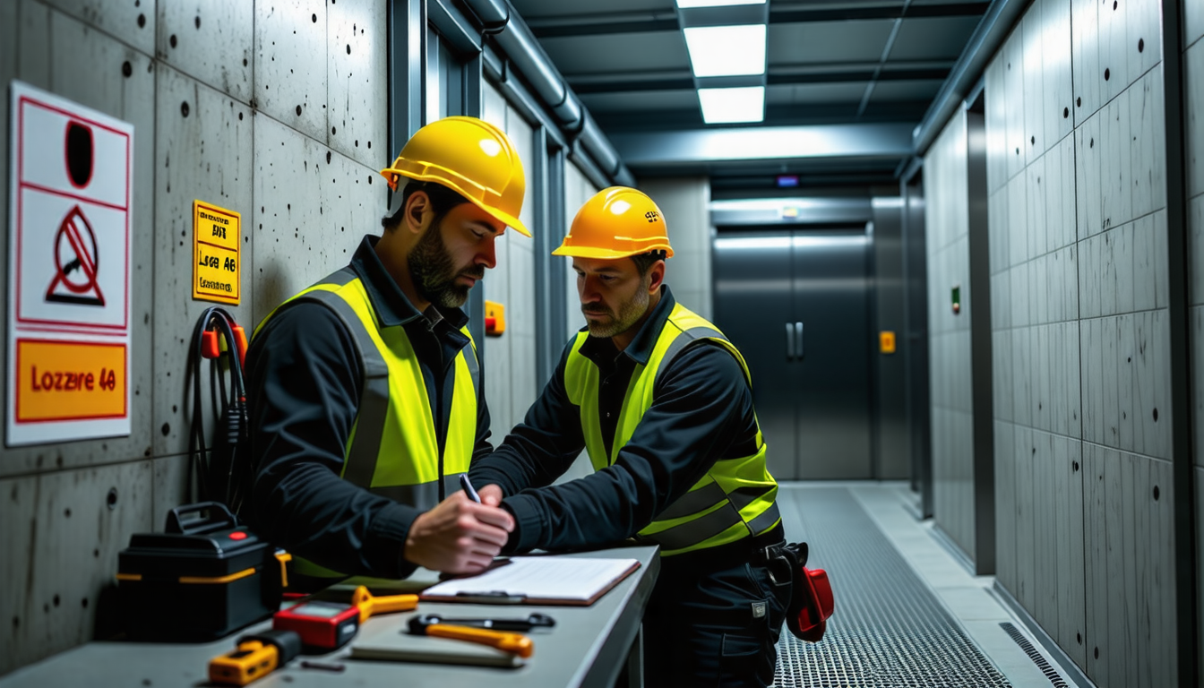
[[[17,422],[125,417],[125,345],[17,340]]]

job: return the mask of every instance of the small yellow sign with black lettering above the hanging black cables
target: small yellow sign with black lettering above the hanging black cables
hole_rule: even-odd
[[[193,298],[238,305],[241,216],[193,201]]]

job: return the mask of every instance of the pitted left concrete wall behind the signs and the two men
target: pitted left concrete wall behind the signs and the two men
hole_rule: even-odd
[[[377,170],[396,154],[388,149],[388,1],[196,7],[0,2],[0,83],[23,80],[135,127],[132,431],[0,454],[10,553],[0,558],[0,675],[104,634],[96,608],[117,553],[187,501],[187,340],[209,305],[190,294],[193,200],[242,213],[242,305],[229,310],[248,328],[380,231],[388,187]],[[488,84],[484,118],[507,131],[531,169],[533,128]],[[0,131],[7,160],[7,107]],[[572,165],[566,174],[571,217],[595,189]],[[4,284],[7,175],[0,165]],[[523,219],[538,231],[529,189]],[[497,259],[484,281],[485,296],[507,307],[506,334],[484,342],[495,441],[538,392],[531,240],[507,233]],[[5,346],[0,339],[0,357]]]

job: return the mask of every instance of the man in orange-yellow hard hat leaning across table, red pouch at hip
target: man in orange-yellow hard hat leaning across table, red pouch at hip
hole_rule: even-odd
[[[514,517],[504,552],[659,545],[645,684],[767,686],[791,574],[748,365],[674,300],[665,216],[645,194],[600,192],[553,254],[572,257],[585,327],[470,471]],[[583,448],[595,472],[551,486]]]

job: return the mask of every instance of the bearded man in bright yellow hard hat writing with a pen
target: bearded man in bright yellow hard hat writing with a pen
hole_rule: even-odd
[[[480,358],[460,306],[519,220],[523,161],[472,117],[419,129],[393,165],[382,236],[284,301],[247,354],[254,483],[244,516],[294,554],[290,582],[464,574],[514,522],[458,477],[490,451]]]

